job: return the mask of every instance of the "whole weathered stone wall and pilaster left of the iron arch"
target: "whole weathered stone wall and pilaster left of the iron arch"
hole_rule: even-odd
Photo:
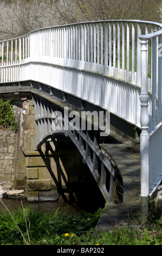
[[[0,186],[3,191],[25,188],[26,163],[23,149],[31,149],[35,132],[32,101],[21,99],[12,103],[18,121],[18,133],[0,127]]]

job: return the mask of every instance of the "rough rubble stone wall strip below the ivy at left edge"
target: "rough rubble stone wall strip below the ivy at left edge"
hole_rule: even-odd
[[[0,129],[0,185],[9,190],[15,178],[17,135],[11,129]]]

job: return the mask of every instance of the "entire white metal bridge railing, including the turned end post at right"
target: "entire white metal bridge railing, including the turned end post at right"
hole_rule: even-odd
[[[0,80],[45,83],[141,127],[144,196],[161,179],[161,28],[111,20],[38,29],[0,42]]]

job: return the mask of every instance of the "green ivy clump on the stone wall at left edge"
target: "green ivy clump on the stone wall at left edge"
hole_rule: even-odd
[[[2,98],[0,98],[0,125],[5,128],[11,127],[12,131],[17,132],[17,121],[11,101],[4,101]]]

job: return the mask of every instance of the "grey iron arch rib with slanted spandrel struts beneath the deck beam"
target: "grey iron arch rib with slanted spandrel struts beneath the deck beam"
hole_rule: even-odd
[[[62,113],[62,126],[64,126],[64,109],[58,108],[58,106],[52,104],[51,109],[47,113],[47,100],[42,99],[40,96],[34,95],[34,108],[35,108],[35,123],[36,123],[36,137],[35,145],[38,151],[41,151],[41,146],[59,135],[68,137],[75,145],[76,149],[80,152],[83,163],[85,163],[90,172],[93,175],[96,184],[98,184],[99,189],[102,193],[103,198],[106,203],[112,202],[122,202],[123,191],[122,191],[122,177],[118,166],[107,156],[105,156],[101,148],[99,147],[99,142],[101,137],[99,135],[99,130],[94,130],[92,125],[92,130],[71,130],[69,129],[70,118],[68,115],[68,130],[53,130],[53,122],[55,118],[52,116],[51,112],[59,111]],[[41,103],[41,104],[40,104]],[[87,123],[87,121],[86,121]],[[50,125],[49,125],[50,124]],[[55,126],[56,128],[56,126]],[[115,192],[114,192],[115,191]],[[121,195],[122,194],[122,195]]]

